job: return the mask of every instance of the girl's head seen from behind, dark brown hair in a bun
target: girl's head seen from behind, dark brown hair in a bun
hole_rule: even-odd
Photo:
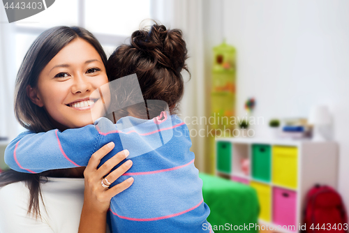
[[[187,53],[180,30],[154,24],[133,32],[131,45],[117,47],[107,61],[107,75],[116,80],[136,73],[144,100],[163,100],[174,113],[184,92],[181,70],[188,71]],[[149,112],[164,110],[147,107]]]

